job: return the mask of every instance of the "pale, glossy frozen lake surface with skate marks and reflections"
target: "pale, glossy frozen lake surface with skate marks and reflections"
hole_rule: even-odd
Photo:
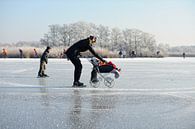
[[[72,88],[66,59],[49,59],[49,78],[37,78],[39,59],[0,59],[0,129],[195,128],[195,58],[111,60],[113,88],[90,87],[87,59],[87,87]]]

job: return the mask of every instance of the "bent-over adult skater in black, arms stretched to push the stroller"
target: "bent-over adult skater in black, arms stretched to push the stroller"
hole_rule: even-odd
[[[92,48],[92,44],[94,44],[95,42],[96,42],[96,37],[90,36],[86,39],[76,42],[66,51],[67,58],[70,59],[70,61],[75,66],[73,86],[78,86],[78,87],[85,86],[83,83],[79,81],[82,72],[82,64],[79,59],[80,52],[85,52],[89,50],[96,58],[98,58],[102,62],[105,62],[105,60],[102,59],[98,54],[96,54],[96,52]]]

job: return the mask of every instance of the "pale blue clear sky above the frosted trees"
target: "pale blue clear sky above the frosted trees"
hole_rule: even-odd
[[[0,43],[39,41],[48,25],[78,21],[140,29],[170,46],[195,45],[195,0],[0,0]]]

